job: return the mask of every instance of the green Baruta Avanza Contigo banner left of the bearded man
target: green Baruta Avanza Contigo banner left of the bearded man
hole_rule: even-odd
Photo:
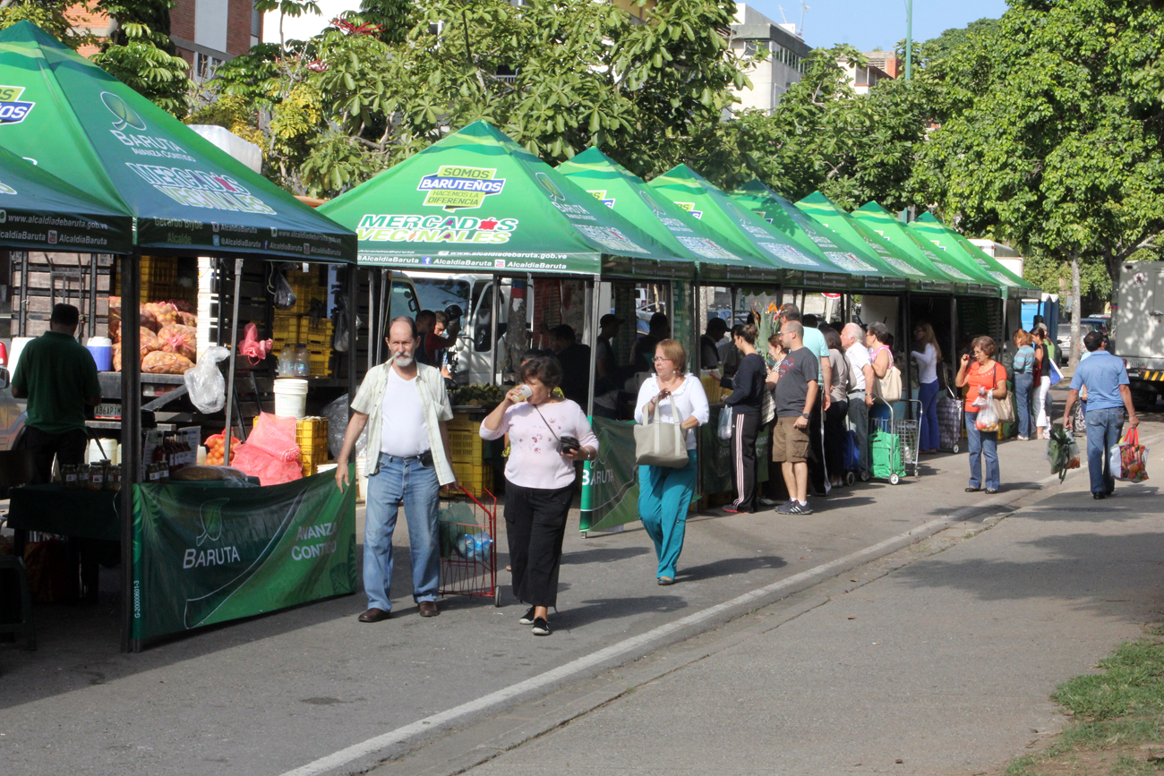
[[[133,638],[354,593],[355,499],[331,474],[268,487],[135,485]]]

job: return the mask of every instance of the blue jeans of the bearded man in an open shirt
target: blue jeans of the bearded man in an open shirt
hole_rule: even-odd
[[[379,471],[368,478],[368,506],[364,515],[364,591],[368,608],[392,610],[392,532],[396,515],[404,506],[409,521],[412,558],[412,599],[436,600],[440,585],[440,544],[436,517],[440,482],[435,467],[424,467],[418,458],[379,456]]]

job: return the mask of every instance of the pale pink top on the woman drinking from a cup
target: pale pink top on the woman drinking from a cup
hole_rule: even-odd
[[[505,410],[495,432],[481,423],[481,439],[495,440],[505,434],[510,435],[505,479],[521,487],[555,490],[574,483],[574,462],[558,451],[559,437],[573,436],[582,447],[598,449],[598,437],[594,435],[585,413],[569,399],[547,401],[537,407],[528,401],[514,404]]]

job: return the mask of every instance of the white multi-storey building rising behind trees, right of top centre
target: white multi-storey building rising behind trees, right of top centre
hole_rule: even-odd
[[[780,97],[799,81],[804,72],[804,59],[811,49],[790,22],[774,22],[755,8],[736,3],[736,23],[732,24],[731,50],[739,57],[766,52],[747,71],[752,88],[739,90],[737,111],[759,108],[771,112]]]

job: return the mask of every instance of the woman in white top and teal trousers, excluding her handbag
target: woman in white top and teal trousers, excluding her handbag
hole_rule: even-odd
[[[695,429],[708,422],[710,408],[703,384],[687,372],[687,353],[674,340],[655,346],[655,376],[639,389],[634,420],[680,423],[687,429],[687,465],[639,467],[639,518],[659,557],[658,581],[674,584],[679,555],[683,551],[687,508],[695,493]]]

